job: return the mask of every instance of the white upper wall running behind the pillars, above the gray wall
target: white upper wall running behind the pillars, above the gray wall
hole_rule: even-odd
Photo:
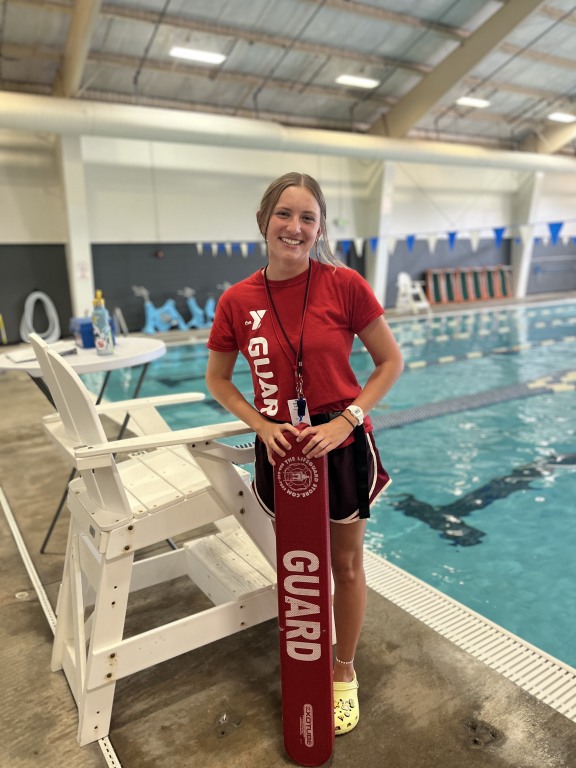
[[[66,241],[56,142],[0,132],[0,243]],[[323,186],[332,239],[373,237],[380,161],[149,141],[84,138],[89,239],[107,242],[254,241],[268,182],[289,170]],[[518,225],[512,170],[396,163],[390,234]],[[576,179],[548,175],[535,222],[569,220]]]

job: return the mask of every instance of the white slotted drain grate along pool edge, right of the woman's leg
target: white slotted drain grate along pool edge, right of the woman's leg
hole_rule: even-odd
[[[576,669],[372,552],[364,567],[375,592],[576,722]]]

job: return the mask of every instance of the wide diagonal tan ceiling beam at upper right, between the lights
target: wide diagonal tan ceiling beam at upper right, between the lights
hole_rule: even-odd
[[[451,88],[540,5],[542,0],[509,0],[459,48],[423,77],[396,106],[379,118],[370,132],[394,138],[406,136]]]

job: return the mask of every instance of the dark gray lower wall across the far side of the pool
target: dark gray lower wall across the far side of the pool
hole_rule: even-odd
[[[390,255],[387,307],[396,303],[396,279],[398,273],[408,272],[413,279],[424,280],[427,269],[450,267],[495,266],[510,264],[510,240],[499,247],[493,240],[481,240],[476,251],[468,240],[456,240],[451,250],[446,240],[439,240],[430,253],[425,240],[416,240],[410,251],[405,241],[398,241]],[[155,254],[162,250],[164,258]],[[343,243],[337,255],[360,274],[365,275],[365,263],[370,250],[364,243],[363,254],[356,254],[354,244]],[[209,295],[218,298],[223,282],[236,283],[265,264],[261,245],[251,247],[244,258],[238,248],[228,256],[220,247],[212,256],[206,246],[198,253],[190,243],[171,243],[159,246],[154,243],[99,244],[92,246],[92,258],[96,287],[101,288],[107,306],[120,307],[131,331],[143,328],[144,303],[134,295],[133,285],[143,285],[150,291],[154,305],[160,306],[167,299],[176,300],[176,306],[185,321],[190,319],[185,299],[177,291],[194,288],[196,299],[204,306]],[[537,241],[528,282],[528,294],[576,290],[576,244],[558,243],[545,245]],[[9,343],[20,341],[20,321],[26,297],[33,291],[41,291],[54,303],[62,335],[68,335],[72,314],[70,290],[66,270],[64,245],[0,245],[0,314],[3,315]],[[87,309],[90,309],[87,307]],[[36,305],[34,328],[42,332],[47,318],[40,304]]]

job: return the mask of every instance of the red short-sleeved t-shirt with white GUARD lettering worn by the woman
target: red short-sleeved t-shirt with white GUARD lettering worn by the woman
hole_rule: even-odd
[[[310,261],[310,287],[302,336],[304,397],[310,415],[343,410],[361,390],[350,365],[354,335],[384,310],[366,280],[353,269]],[[207,346],[240,351],[248,361],[254,405],[265,416],[290,422],[296,397],[298,349],[308,272],[291,280],[268,280],[259,270],[222,294]],[[368,421],[368,420],[366,420]],[[369,423],[365,426],[369,429]]]

